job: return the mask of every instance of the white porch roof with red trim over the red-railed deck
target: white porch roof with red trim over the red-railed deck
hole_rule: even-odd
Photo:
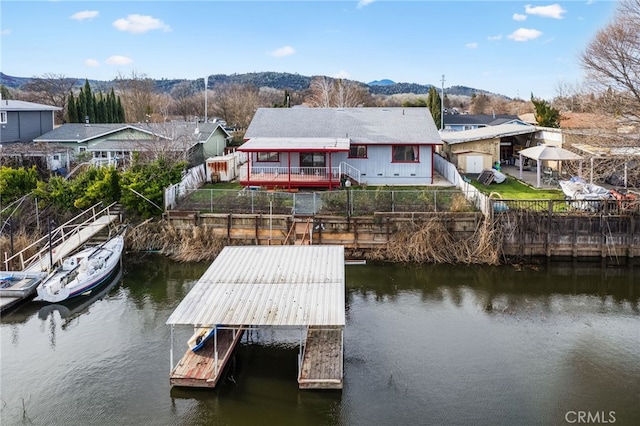
[[[238,151],[349,151],[349,138],[251,138]],[[303,146],[304,149],[300,147]]]

